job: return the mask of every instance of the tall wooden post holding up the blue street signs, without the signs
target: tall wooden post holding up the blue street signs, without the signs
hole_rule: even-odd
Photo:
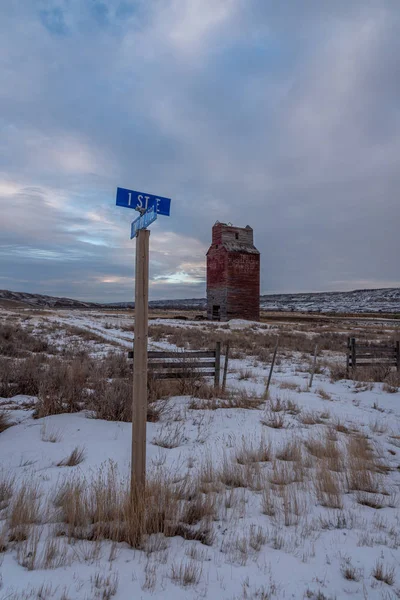
[[[147,338],[150,231],[136,236],[135,351],[133,354],[131,497],[140,496],[146,484]],[[138,496],[136,496],[138,495]]]

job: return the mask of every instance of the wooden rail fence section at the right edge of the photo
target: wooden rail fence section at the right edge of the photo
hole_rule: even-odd
[[[400,343],[393,346],[382,344],[357,344],[355,338],[347,340],[346,373],[357,367],[396,367],[400,372]]]

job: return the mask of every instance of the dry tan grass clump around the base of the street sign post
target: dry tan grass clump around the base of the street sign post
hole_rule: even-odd
[[[60,523],[59,533],[70,539],[109,539],[143,547],[148,536],[162,534],[209,544],[210,519],[217,511],[217,502],[200,500],[197,489],[197,482],[194,485],[185,479],[176,484],[155,474],[132,502],[127,482],[110,465],[90,482],[66,480],[54,496],[55,518]]]

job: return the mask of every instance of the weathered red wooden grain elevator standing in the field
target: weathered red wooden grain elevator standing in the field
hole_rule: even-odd
[[[207,252],[209,320],[260,318],[260,253],[253,229],[215,223]]]

